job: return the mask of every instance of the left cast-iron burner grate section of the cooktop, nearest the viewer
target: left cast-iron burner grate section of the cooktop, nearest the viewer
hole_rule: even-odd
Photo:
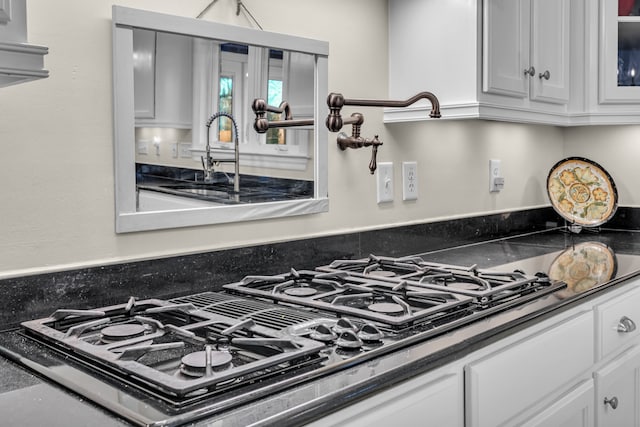
[[[85,366],[136,384],[176,407],[325,358],[323,343],[249,318],[199,310],[189,301],[130,299],[98,310],[60,310],[22,326],[26,334]],[[185,368],[185,360],[201,354],[203,369]],[[221,358],[228,363],[218,366],[215,361]]]

